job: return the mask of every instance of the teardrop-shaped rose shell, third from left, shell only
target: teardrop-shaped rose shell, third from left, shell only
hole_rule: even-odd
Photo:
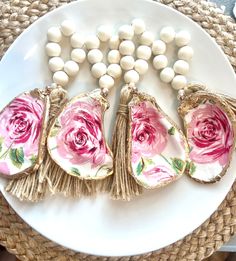
[[[129,172],[147,189],[181,177],[188,146],[181,130],[149,95],[134,94],[129,103]]]

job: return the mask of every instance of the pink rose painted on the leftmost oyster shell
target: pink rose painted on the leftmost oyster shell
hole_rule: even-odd
[[[44,104],[29,94],[15,98],[0,114],[0,136],[7,147],[24,147],[25,156],[38,152]]]

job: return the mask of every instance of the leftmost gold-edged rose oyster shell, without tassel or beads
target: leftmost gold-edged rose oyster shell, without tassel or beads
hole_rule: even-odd
[[[0,175],[17,178],[42,162],[49,97],[35,89],[14,98],[0,112]]]

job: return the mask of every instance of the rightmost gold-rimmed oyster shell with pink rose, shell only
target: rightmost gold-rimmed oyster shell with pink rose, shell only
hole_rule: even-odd
[[[178,108],[190,148],[186,173],[202,183],[219,181],[235,147],[235,115],[219,95],[198,91]]]

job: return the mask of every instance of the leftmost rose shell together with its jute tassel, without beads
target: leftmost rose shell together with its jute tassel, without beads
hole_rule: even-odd
[[[64,101],[59,86],[35,89],[14,98],[0,112],[0,175],[10,179],[6,191],[20,200],[45,196],[46,138],[54,109]]]

